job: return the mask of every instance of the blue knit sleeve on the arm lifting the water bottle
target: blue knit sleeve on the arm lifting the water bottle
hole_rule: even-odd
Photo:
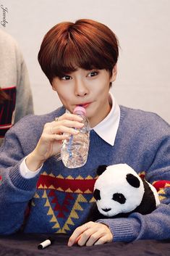
[[[0,234],[12,234],[20,229],[27,205],[35,194],[39,175],[29,179],[21,176],[24,157],[20,139],[11,128],[0,148]]]

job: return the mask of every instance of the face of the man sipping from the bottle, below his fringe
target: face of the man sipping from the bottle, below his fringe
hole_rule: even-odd
[[[107,70],[79,68],[62,78],[54,78],[52,87],[69,112],[73,112],[77,105],[85,107],[90,126],[94,127],[110,111],[109,87],[115,79],[116,65],[112,76]]]

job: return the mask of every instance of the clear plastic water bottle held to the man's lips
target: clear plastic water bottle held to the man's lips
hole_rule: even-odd
[[[82,117],[82,123],[85,125],[79,129],[79,133],[71,135],[65,139],[61,146],[61,160],[67,168],[79,168],[85,165],[88,159],[88,149],[90,142],[90,125],[88,118],[85,116],[84,107],[75,107],[75,115]]]

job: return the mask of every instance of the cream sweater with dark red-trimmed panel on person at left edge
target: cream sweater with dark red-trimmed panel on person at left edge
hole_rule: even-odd
[[[17,42],[0,30],[0,87],[10,99],[0,104],[0,144],[4,134],[22,117],[33,114],[27,67]]]

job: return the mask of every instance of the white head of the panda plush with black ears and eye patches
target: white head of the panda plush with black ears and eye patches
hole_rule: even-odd
[[[145,192],[143,181],[129,165],[101,165],[98,175],[93,195],[102,215],[112,217],[140,205]]]

